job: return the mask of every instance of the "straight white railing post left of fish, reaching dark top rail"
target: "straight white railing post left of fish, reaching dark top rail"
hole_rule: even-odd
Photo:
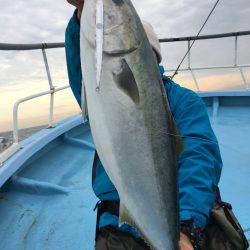
[[[50,69],[49,69],[49,64],[48,64],[48,59],[47,59],[47,55],[46,55],[46,51],[44,48],[42,48],[42,53],[43,53],[43,61],[45,64],[45,69],[46,69],[46,73],[47,73],[47,77],[48,77],[48,82],[49,82],[49,87],[51,90],[51,94],[50,94],[50,112],[49,112],[49,125],[48,128],[53,128],[54,124],[53,124],[53,113],[54,113],[54,96],[55,96],[55,87],[53,86],[52,83],[52,78],[51,78],[51,74],[50,74]]]

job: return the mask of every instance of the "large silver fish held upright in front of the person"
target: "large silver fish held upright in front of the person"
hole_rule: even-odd
[[[80,40],[82,96],[120,196],[120,224],[134,226],[153,249],[178,249],[175,125],[131,1],[85,0]]]

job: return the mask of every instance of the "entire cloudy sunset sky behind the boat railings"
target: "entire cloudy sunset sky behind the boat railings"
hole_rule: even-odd
[[[214,0],[134,0],[140,17],[152,24],[159,38],[195,35],[211,10]],[[74,7],[66,0],[0,0],[0,43],[40,43],[64,41],[65,29]],[[220,0],[202,34],[250,30],[249,0]],[[250,36],[239,38],[239,63],[250,63]],[[232,38],[197,41],[192,49],[192,65],[233,64]],[[186,43],[163,44],[163,64],[176,68],[186,50]],[[48,50],[53,83],[68,85],[64,49]],[[186,63],[186,62],[185,62]],[[185,66],[185,64],[184,64]],[[244,70],[247,81],[250,71]],[[241,89],[237,70],[196,72],[201,90]],[[175,79],[179,84],[195,89],[190,73]],[[250,81],[249,81],[250,82]],[[0,131],[10,130],[15,101],[48,90],[41,51],[0,51]],[[55,118],[79,113],[70,90],[55,97]],[[20,127],[47,122],[49,98],[41,97],[20,105]]]

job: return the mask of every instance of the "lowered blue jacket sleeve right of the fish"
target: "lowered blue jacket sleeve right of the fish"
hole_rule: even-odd
[[[170,108],[184,142],[178,162],[180,220],[193,220],[204,228],[221,175],[220,149],[202,99],[171,80],[167,85]]]

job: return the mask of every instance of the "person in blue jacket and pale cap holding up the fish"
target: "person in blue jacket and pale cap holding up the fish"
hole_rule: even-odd
[[[81,106],[84,74],[80,59],[80,18],[85,5],[84,0],[67,2],[76,7],[66,29],[68,76],[73,94]],[[201,98],[164,76],[158,38],[150,24],[143,22],[143,27],[153,50],[153,60],[159,64],[170,111],[184,143],[178,156],[179,248],[203,249],[204,230],[210,223],[210,211],[216,200],[222,169],[219,146]],[[123,63],[123,68],[126,68],[126,62]],[[135,96],[131,98],[138,101]],[[132,225],[119,226],[120,197],[97,153],[93,163],[93,189],[100,199],[97,204],[96,249],[150,249]]]

